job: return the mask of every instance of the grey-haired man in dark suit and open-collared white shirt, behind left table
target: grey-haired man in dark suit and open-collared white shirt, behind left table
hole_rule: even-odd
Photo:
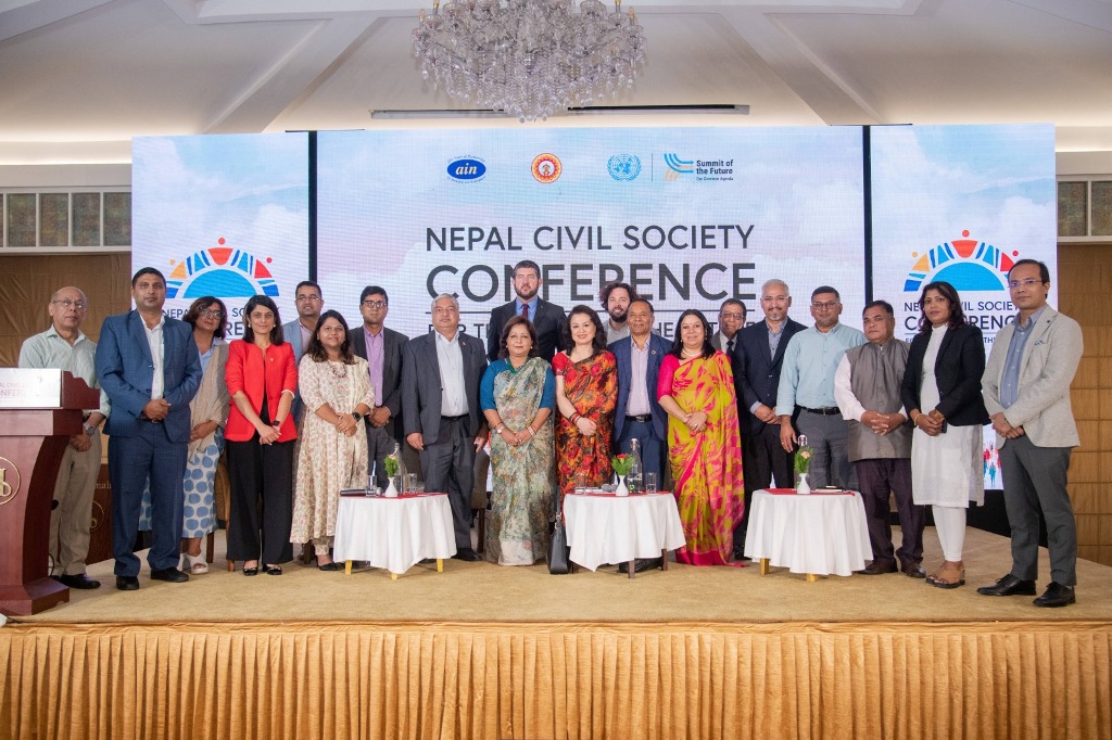
[[[459,331],[459,303],[446,293],[433,301],[433,329],[406,343],[401,413],[406,441],[420,453],[425,488],[451,503],[459,560],[481,560],[471,548],[470,490],[475,451],[486,443],[479,381],[483,346]]]

